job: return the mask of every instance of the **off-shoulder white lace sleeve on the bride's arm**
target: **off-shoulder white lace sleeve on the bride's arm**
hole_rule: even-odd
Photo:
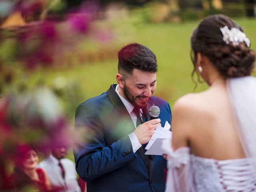
[[[166,192],[194,191],[192,172],[190,170],[189,148],[182,147],[173,151],[171,140],[164,141],[162,148],[168,154]]]

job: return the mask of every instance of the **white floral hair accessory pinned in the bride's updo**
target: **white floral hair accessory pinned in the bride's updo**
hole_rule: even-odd
[[[238,28],[231,28],[230,30],[228,29],[228,26],[224,26],[220,28],[220,31],[223,35],[222,39],[226,42],[226,44],[232,42],[233,45],[238,45],[241,42],[245,42],[248,47],[250,46],[250,40]]]

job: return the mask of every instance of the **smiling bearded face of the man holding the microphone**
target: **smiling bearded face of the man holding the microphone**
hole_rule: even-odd
[[[156,90],[156,73],[133,69],[124,80],[123,94],[137,108],[144,108]]]

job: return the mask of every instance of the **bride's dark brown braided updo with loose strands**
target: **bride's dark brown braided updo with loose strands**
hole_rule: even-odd
[[[220,28],[228,26],[243,29],[232,19],[222,14],[217,14],[204,19],[194,30],[191,36],[191,58],[196,66],[197,53],[207,56],[216,69],[225,78],[249,76],[254,69],[255,52],[245,42],[233,45],[226,44],[222,39]]]

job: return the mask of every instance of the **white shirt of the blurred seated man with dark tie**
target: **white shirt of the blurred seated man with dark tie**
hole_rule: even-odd
[[[39,163],[38,167],[42,168],[52,184],[52,187],[62,187],[62,192],[81,192],[76,178],[75,164],[70,159],[60,160],[64,170],[65,179],[62,178],[59,160],[52,154],[45,160]]]

